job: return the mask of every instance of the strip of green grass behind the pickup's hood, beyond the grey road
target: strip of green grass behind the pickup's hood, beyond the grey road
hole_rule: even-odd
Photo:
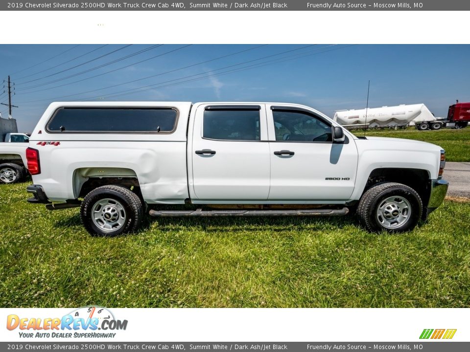
[[[352,131],[364,135],[363,130]],[[406,130],[366,131],[366,136],[381,136],[416,139],[441,146],[446,150],[447,161],[470,161],[470,127],[461,130],[442,129],[438,131],[418,131],[414,127]]]

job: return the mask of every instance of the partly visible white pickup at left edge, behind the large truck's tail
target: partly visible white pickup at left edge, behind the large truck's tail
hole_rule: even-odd
[[[20,182],[27,175],[26,148],[29,137],[24,133],[6,133],[0,143],[0,183]]]

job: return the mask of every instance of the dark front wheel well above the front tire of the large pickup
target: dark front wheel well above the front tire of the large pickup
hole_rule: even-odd
[[[371,172],[364,192],[377,183],[398,182],[413,188],[420,195],[423,204],[427,204],[429,200],[429,180],[429,172],[423,169],[380,168]]]

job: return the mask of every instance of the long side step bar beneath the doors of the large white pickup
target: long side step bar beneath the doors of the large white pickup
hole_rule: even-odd
[[[243,216],[339,216],[349,213],[349,209],[314,209],[314,210],[153,210],[149,215],[164,217],[243,217]]]

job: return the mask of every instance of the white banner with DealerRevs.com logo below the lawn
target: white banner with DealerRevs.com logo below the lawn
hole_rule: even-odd
[[[469,314],[465,308],[0,308],[2,342],[470,341]],[[435,338],[423,339],[423,330]]]

